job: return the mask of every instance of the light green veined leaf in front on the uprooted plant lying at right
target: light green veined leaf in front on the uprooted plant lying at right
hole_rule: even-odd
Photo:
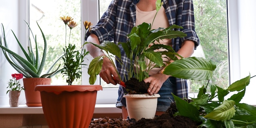
[[[216,121],[229,120],[235,115],[236,110],[234,108],[234,105],[235,105],[235,101],[225,100],[220,106],[218,106],[217,108],[214,108],[213,111],[205,115],[204,118],[208,118]]]

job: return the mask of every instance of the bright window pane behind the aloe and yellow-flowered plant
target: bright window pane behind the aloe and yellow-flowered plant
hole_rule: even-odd
[[[48,69],[52,63],[63,54],[63,48],[66,43],[73,43],[79,49],[81,46],[81,1],[80,0],[30,0],[29,9],[30,26],[36,34],[38,47],[40,54],[43,53],[43,38],[40,34],[36,22],[40,25],[41,29],[45,34],[47,40],[47,61],[45,66]],[[74,21],[78,24],[71,31],[67,26],[67,32],[65,30],[65,24],[60,19],[63,16],[71,16]],[[67,37],[65,34],[67,33]],[[31,36],[31,34],[30,34]],[[70,38],[69,38],[70,36]],[[31,36],[32,39],[32,36]],[[34,43],[31,43],[34,44]],[[63,63],[62,60],[58,64]],[[53,68],[56,69],[58,64]],[[63,65],[61,65],[62,68]],[[65,77],[61,73],[57,74],[52,78],[52,84],[67,84]],[[74,81],[75,84],[81,84],[81,79]]]

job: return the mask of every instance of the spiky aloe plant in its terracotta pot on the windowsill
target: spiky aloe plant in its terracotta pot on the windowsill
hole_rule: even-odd
[[[5,36],[3,25],[2,25],[3,42],[2,42],[2,36],[0,37],[0,48],[2,49],[2,52],[5,58],[17,72],[23,74],[23,76],[25,77],[23,79],[23,85],[25,88],[25,97],[26,97],[27,106],[42,106],[41,100],[40,100],[40,93],[34,91],[35,86],[39,84],[40,85],[51,84],[51,77],[61,72],[61,69],[59,69],[60,65],[54,71],[52,71],[52,68],[54,67],[54,65],[56,65],[56,63],[61,59],[62,56],[57,58],[56,61],[54,61],[54,63],[52,64],[52,66],[45,72],[45,74],[43,74],[43,70],[45,70],[44,69],[45,60],[47,58],[47,40],[39,25],[38,27],[44,39],[44,50],[43,50],[42,56],[40,56],[39,54],[37,40],[33,32],[31,31],[31,28],[29,25],[28,25],[28,28],[29,28],[29,31],[31,32],[32,38],[29,38],[29,46],[27,47],[27,49],[22,47],[22,45],[20,44],[20,41],[12,31],[14,37],[17,40],[18,45],[20,46],[20,49],[22,50],[23,56],[25,57],[22,57],[22,55],[16,52],[13,52],[11,49],[9,49],[8,43],[6,40],[7,37]],[[33,41],[35,43],[34,51],[31,47],[32,46],[31,43]]]

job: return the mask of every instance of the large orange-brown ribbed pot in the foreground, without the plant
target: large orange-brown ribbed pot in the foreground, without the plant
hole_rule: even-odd
[[[101,85],[37,85],[49,128],[88,128]]]

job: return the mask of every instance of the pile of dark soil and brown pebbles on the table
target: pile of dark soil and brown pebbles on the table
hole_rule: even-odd
[[[177,112],[175,103],[166,112],[154,119],[109,119],[99,118],[91,121],[89,128],[197,128],[198,124],[183,116],[173,116]]]

